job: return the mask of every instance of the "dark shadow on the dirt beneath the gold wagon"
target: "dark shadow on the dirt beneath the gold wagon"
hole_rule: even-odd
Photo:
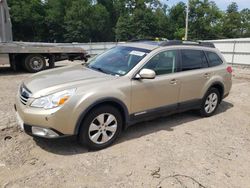
[[[232,108],[232,103],[222,101],[215,114],[221,114]],[[174,127],[181,126],[185,123],[196,121],[201,117],[197,112],[187,111],[179,114],[174,114],[166,117],[157,118],[155,120],[137,123],[126,129],[120,138],[114,143],[120,144],[128,140],[137,139],[145,135],[149,135],[158,131],[174,131]],[[212,118],[212,117],[210,117]],[[42,149],[58,155],[76,155],[86,152],[96,152],[78,144],[76,137],[65,137],[59,139],[38,139],[34,138],[35,142]],[[112,147],[112,146],[111,146]]]

